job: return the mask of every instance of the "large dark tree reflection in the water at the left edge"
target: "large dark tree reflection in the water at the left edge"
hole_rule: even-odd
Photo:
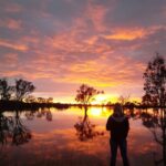
[[[0,143],[21,145],[31,139],[31,132],[23,125],[19,112],[15,111],[14,117],[4,116],[0,113]]]

